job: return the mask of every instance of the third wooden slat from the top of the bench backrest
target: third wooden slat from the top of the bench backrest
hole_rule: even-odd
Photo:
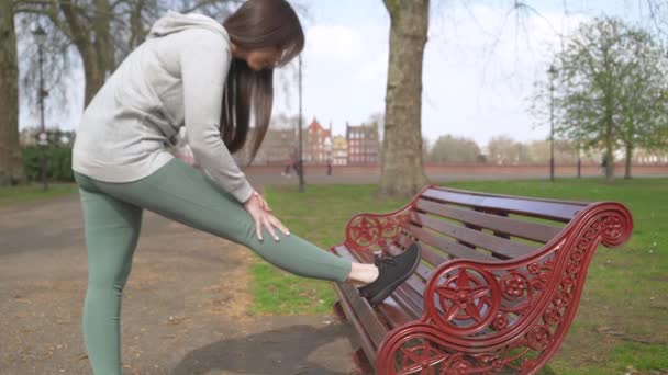
[[[490,250],[494,254],[500,254],[508,259],[525,255],[536,248],[521,242],[513,242],[505,238],[488,235],[483,231],[469,229],[463,226],[457,226],[445,220],[438,220],[425,214],[420,214],[414,211],[410,212],[410,219],[415,224],[430,229],[437,230],[444,235],[463,240],[476,247]]]

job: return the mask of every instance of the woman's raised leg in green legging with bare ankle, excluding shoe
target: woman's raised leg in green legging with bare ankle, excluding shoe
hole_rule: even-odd
[[[108,183],[96,180],[94,184],[118,200],[246,246],[269,263],[301,276],[344,282],[353,269],[349,260],[294,234],[286,236],[277,229],[277,242],[263,229],[264,241],[260,241],[256,237],[255,223],[238,201],[204,173],[176,158],[138,181]],[[355,271],[371,275],[376,272],[377,275],[374,265],[366,268],[368,270],[356,268]]]

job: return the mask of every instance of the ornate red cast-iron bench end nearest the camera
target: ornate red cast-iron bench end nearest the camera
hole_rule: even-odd
[[[526,257],[443,263],[427,281],[425,295],[433,298],[424,299],[422,318],[394,327],[380,343],[378,374],[392,374],[399,357],[408,359],[407,373],[436,363],[454,373],[536,373],[570,327],[598,245],[619,247],[632,228],[624,206],[595,203]],[[416,339],[422,345],[411,345]]]

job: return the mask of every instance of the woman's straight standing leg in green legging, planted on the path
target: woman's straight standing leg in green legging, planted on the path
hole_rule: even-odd
[[[96,375],[121,374],[121,299],[140,237],[142,208],[99,191],[75,173],[88,249],[84,341]]]

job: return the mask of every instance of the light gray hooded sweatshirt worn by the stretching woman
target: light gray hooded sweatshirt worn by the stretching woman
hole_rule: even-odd
[[[73,170],[107,182],[142,179],[174,158],[168,147],[186,126],[201,168],[245,202],[253,188],[219,129],[231,59],[230,37],[219,22],[168,11],[84,111]]]

